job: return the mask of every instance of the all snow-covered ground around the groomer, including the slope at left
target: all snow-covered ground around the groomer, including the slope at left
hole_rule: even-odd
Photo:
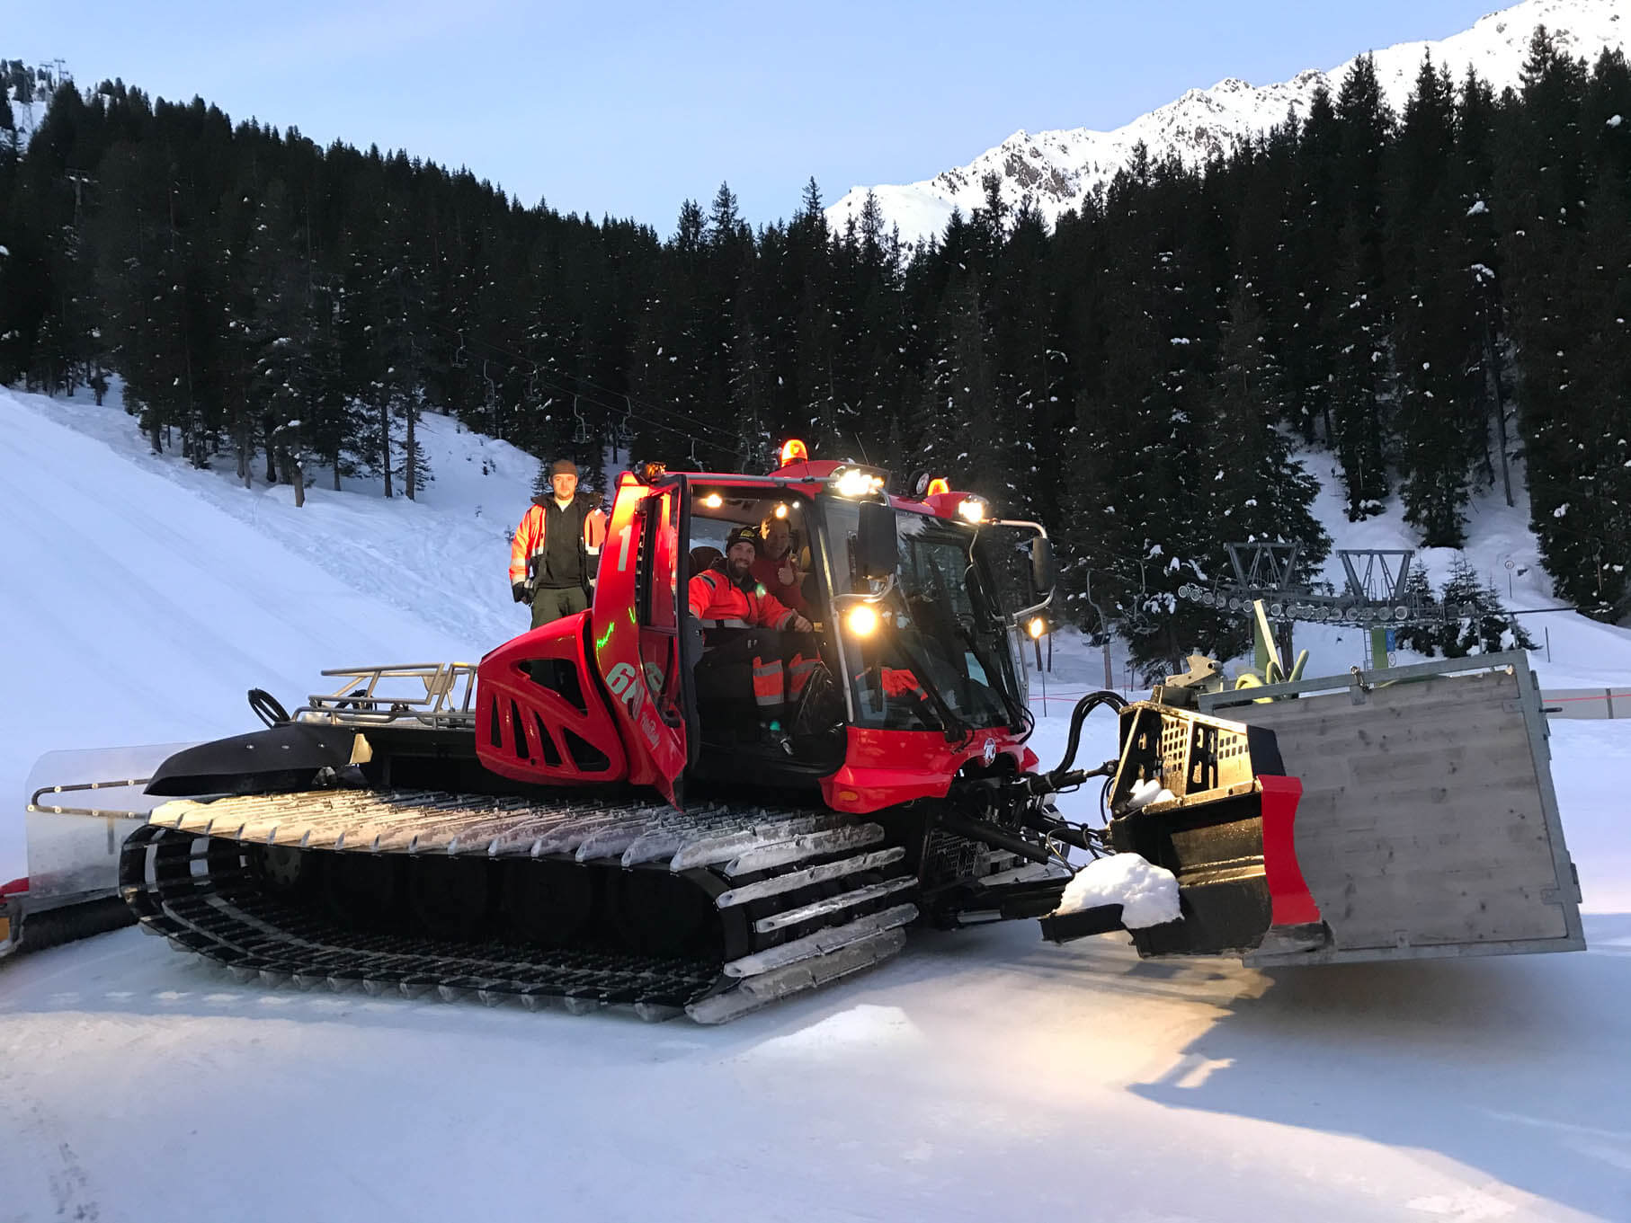
[[[347,481],[297,510],[148,457],[117,409],[0,390],[0,881],[42,752],[238,732],[250,687],[289,703],[321,667],[475,659],[524,628],[504,532],[533,460],[424,435],[419,502]],[[1522,512],[1473,530],[1504,592]],[[1549,605],[1520,564],[1517,603]],[[1631,634],[1545,621],[1548,687],[1631,675]],[[1362,649],[1298,644],[1316,670]],[[1101,680],[1055,642],[1044,760]],[[1080,758],[1112,752],[1094,714]],[[1572,956],[1261,972],[1013,923],[913,933],[723,1029],[240,987],[130,929],[7,960],[0,1220],[1631,1218],[1631,724],[1556,722],[1553,752]]]

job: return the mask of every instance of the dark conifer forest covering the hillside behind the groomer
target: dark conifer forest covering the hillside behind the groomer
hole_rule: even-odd
[[[1545,29],[1518,90],[1424,62],[1393,113],[1360,59],[1227,158],[1140,148],[1054,227],[988,181],[910,254],[814,181],[789,220],[719,186],[664,236],[122,82],[60,86],[24,143],[0,90],[0,382],[117,375],[155,450],[246,483],[413,497],[426,411],[600,489],[799,435],[1039,519],[1067,618],[1160,659],[1228,656],[1176,598],[1227,541],[1318,567],[1319,463],[1422,546],[1527,491],[1559,600],[1631,612],[1631,68]]]

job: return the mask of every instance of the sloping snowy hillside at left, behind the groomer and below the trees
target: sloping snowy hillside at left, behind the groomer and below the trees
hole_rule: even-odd
[[[119,409],[0,390],[0,633],[16,711],[0,793],[20,794],[44,752],[238,734],[253,729],[250,688],[294,708],[325,667],[475,660],[525,628],[502,615],[504,525],[460,491],[476,466],[462,457],[478,452],[460,440],[460,461],[432,457],[457,514],[434,494],[413,506],[323,489],[297,510],[289,488],[148,457]],[[504,473],[494,494],[524,506],[537,465],[486,448]],[[21,874],[21,823],[0,820],[0,882]]]

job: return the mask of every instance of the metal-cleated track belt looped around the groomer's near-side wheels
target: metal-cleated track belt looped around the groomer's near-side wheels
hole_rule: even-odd
[[[752,892],[755,920],[747,928],[755,933],[747,954],[724,965],[359,933],[263,889],[250,877],[243,845],[706,869],[719,881],[721,907],[737,903],[732,887]],[[238,980],[571,1011],[631,1006],[648,1019],[690,1008],[716,1022],[899,952],[900,926],[917,916],[908,903],[915,881],[899,859],[879,825],[825,810],[680,814],[424,791],[315,791],[165,804],[126,841],[121,895],[147,931],[225,965]],[[838,895],[809,903],[816,882],[863,871],[866,885],[856,882],[853,902]],[[887,876],[882,884],[879,874]],[[773,933],[778,918],[806,910],[812,915],[801,920],[796,939]]]

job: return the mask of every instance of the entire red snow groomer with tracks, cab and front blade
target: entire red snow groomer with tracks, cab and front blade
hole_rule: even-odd
[[[892,494],[796,442],[763,476],[646,465],[589,612],[480,667],[333,672],[292,714],[256,690],[266,729],[153,773],[173,801],[124,841],[121,894],[240,978],[703,1022],[908,926],[1122,928],[1117,903],[1057,912],[1070,848],[1176,877],[1143,956],[1584,944],[1523,656],[1093,693],[1039,771],[1021,646],[1052,569],[1039,525],[944,479]],[[1098,706],[1120,755],[1075,768]],[[1054,806],[1091,778],[1103,827]]]

